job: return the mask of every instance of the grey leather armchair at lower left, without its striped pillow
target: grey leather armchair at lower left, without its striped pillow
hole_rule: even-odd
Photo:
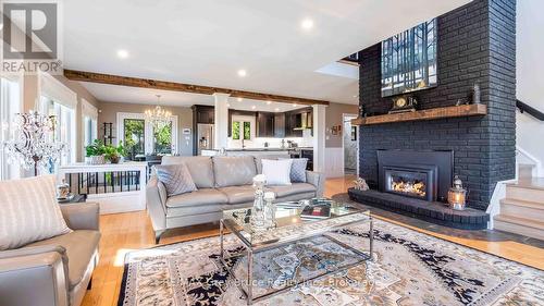
[[[62,205],[73,231],[0,252],[0,305],[77,306],[98,264],[99,206]]]

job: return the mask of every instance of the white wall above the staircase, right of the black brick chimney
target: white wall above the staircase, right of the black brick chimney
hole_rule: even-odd
[[[517,3],[517,97],[544,112],[544,1]],[[517,145],[544,162],[544,122],[518,112],[516,123]]]

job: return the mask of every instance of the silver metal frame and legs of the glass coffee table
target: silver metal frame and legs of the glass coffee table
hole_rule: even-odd
[[[349,225],[357,224],[357,223],[363,223],[363,222],[369,222],[369,224],[370,224],[370,229],[369,229],[369,254],[366,254],[366,253],[362,253],[362,252],[360,252],[358,249],[355,249],[354,247],[351,247],[351,246],[349,246],[349,245],[347,245],[347,244],[345,244],[343,242],[339,242],[338,240],[336,240],[336,238],[334,238],[334,237],[332,237],[330,235],[325,235],[326,233],[332,232],[334,230],[337,230],[337,229],[341,229],[341,228],[345,228],[345,227],[349,227]],[[349,268],[353,268],[355,266],[360,265],[363,261],[372,260],[372,256],[373,256],[374,232],[373,232],[373,220],[372,220],[372,216],[370,213],[369,213],[369,218],[368,219],[351,221],[351,222],[347,222],[347,223],[343,223],[343,224],[338,224],[338,225],[333,225],[333,227],[330,227],[330,228],[326,228],[326,229],[312,231],[310,234],[302,234],[302,235],[292,236],[289,240],[285,240],[285,241],[282,241],[282,242],[269,241],[269,242],[263,242],[263,243],[260,243],[260,244],[251,244],[251,242],[249,242],[244,235],[242,235],[236,230],[236,227],[239,227],[239,225],[236,224],[231,219],[221,219],[220,220],[220,223],[219,223],[219,235],[220,235],[220,244],[221,244],[221,246],[220,246],[220,254],[221,254],[220,260],[223,264],[223,266],[225,267],[225,269],[227,269],[227,271],[231,273],[231,276],[233,278],[236,278],[236,276],[234,274],[234,271],[231,269],[231,267],[228,267],[228,265],[225,261],[225,259],[227,259],[227,258],[224,257],[223,240],[224,240],[224,230],[226,228],[231,233],[233,233],[243,243],[244,247],[246,248],[246,254],[247,254],[247,291],[242,285],[242,282],[238,281],[236,283],[237,283],[238,287],[240,289],[240,291],[246,296],[246,301],[247,301],[248,305],[251,305],[254,302],[271,297],[271,296],[276,295],[279,293],[283,293],[283,292],[285,292],[285,291],[287,291],[287,290],[289,290],[289,289],[292,289],[292,287],[294,287],[294,286],[296,286],[296,285],[298,285],[298,284],[300,284],[302,282],[312,281],[312,280],[319,279],[319,278],[325,277],[325,276],[330,276],[331,273],[336,273],[336,272],[341,272],[341,271],[347,270]],[[252,286],[254,286],[252,266],[254,266],[254,255],[255,254],[257,254],[258,252],[263,252],[263,250],[267,250],[267,249],[276,248],[276,247],[280,247],[280,246],[283,246],[283,245],[286,245],[286,244],[290,244],[290,243],[294,243],[294,242],[297,242],[297,241],[300,241],[300,240],[316,237],[316,236],[319,236],[319,235],[323,235],[326,238],[333,241],[334,243],[337,243],[338,245],[341,245],[341,246],[343,246],[343,247],[345,247],[345,248],[354,252],[355,254],[361,256],[361,259],[357,260],[354,264],[345,265],[345,266],[342,266],[342,267],[339,267],[337,269],[334,269],[334,270],[330,270],[330,271],[327,270],[324,273],[321,273],[319,276],[316,276],[316,277],[312,277],[312,278],[309,278],[309,279],[302,279],[302,280],[295,281],[293,284],[286,285],[285,287],[283,287],[281,290],[277,290],[277,291],[274,291],[274,292],[270,292],[270,293],[267,293],[267,294],[258,296],[258,297],[254,297],[252,296]],[[244,256],[244,254],[238,254],[238,255],[234,255],[234,256],[231,256],[231,257],[242,257],[242,256]]]

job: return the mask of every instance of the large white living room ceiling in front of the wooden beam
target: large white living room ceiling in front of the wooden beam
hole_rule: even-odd
[[[357,79],[316,71],[467,2],[64,0],[64,66],[357,103]],[[313,28],[302,29],[304,19]],[[120,100],[120,91],[91,93]]]

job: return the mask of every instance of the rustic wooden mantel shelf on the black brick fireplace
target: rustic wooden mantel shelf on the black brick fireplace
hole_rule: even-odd
[[[390,113],[390,114],[372,115],[367,118],[357,118],[351,120],[351,125],[384,124],[391,122],[422,121],[422,120],[434,120],[441,118],[470,117],[470,115],[484,115],[484,114],[487,114],[487,106],[485,105],[469,105],[469,106],[458,106],[458,107],[455,106],[455,107],[418,110],[413,112]]]

